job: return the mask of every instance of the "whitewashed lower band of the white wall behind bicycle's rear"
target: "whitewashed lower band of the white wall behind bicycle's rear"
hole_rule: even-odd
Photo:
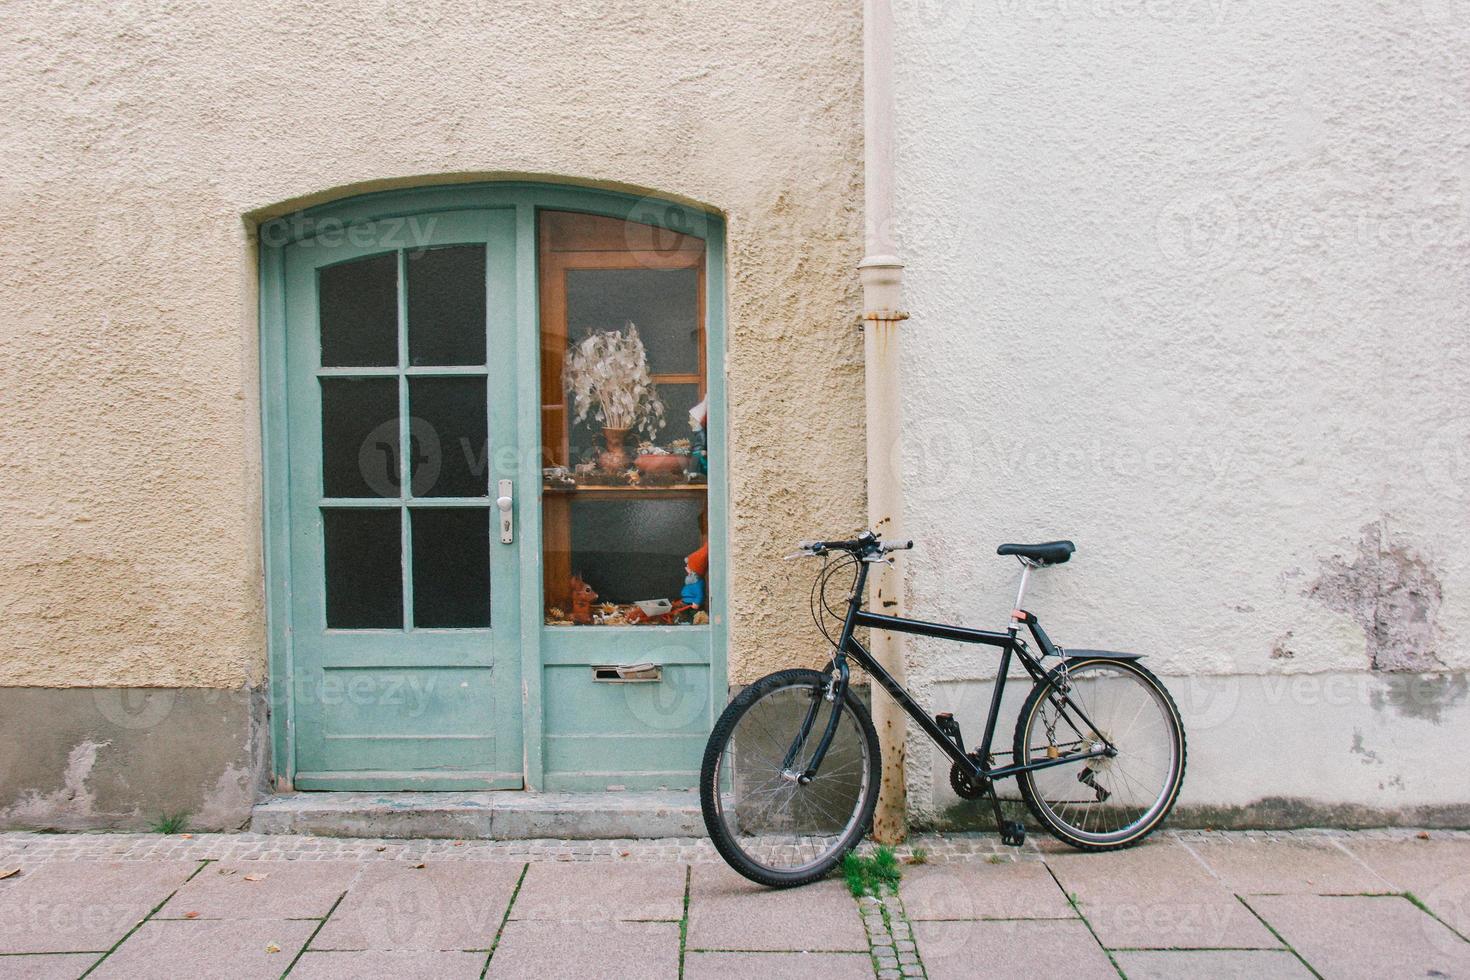
[[[1458,761],[1470,732],[1470,674],[1320,673],[1164,676],[1188,733],[1172,827],[1470,827]],[[995,748],[1008,752],[1029,685],[1007,685]],[[988,680],[936,680],[925,693],[972,741]],[[914,826],[988,829],[988,807],[960,801],[938,749],[908,742]],[[1003,758],[1008,761],[1008,758]],[[1017,796],[1014,783],[1000,785]],[[1017,815],[1019,801],[1007,805]],[[1026,814],[1029,817],[1029,814]]]

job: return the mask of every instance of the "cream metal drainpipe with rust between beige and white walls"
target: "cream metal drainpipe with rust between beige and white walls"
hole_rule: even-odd
[[[863,281],[863,363],[867,398],[867,520],[885,538],[903,536],[900,480],[898,323],[904,266],[894,239],[894,16],[889,0],[863,4],[863,198],[866,210]],[[876,566],[869,607],[903,614],[903,576]],[[904,682],[903,636],[875,633],[873,655]],[[904,742],[907,717],[892,698],[873,692],[873,723],[883,754],[883,780],[873,814],[873,837],[898,843],[907,836]]]

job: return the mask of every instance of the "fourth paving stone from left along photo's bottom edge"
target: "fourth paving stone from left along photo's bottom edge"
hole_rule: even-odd
[[[678,923],[512,921],[490,961],[490,980],[673,980]]]

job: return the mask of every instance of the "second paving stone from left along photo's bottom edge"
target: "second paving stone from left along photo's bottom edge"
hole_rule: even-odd
[[[272,920],[148,921],[88,980],[190,977],[273,980],[310,939],[316,923]],[[275,948],[278,952],[270,952]]]

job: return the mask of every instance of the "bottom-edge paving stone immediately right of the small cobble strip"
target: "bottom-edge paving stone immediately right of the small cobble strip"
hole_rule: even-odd
[[[929,980],[1067,977],[1117,980],[1079,920],[914,923]]]

